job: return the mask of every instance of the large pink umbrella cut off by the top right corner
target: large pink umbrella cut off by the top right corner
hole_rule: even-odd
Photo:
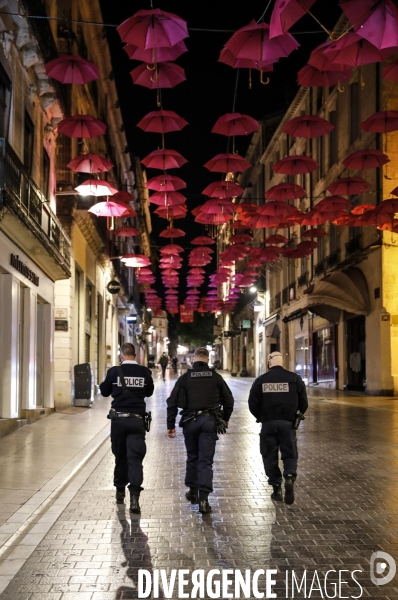
[[[377,48],[398,46],[398,9],[391,0],[340,0],[355,31]]]

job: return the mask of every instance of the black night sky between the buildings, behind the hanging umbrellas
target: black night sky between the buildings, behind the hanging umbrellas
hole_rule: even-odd
[[[100,0],[100,3],[105,23],[119,24],[137,10],[150,8],[149,0],[134,2]],[[265,22],[269,22],[273,3],[272,0],[264,18]],[[232,33],[198,32],[193,29],[235,31],[252,19],[257,21],[267,4],[268,0],[264,2],[259,0],[242,2],[155,0],[154,2],[155,7],[185,19],[190,33],[190,37],[185,40],[188,52],[177,60],[177,63],[185,69],[187,81],[171,90],[162,91],[163,108],[174,110],[189,123],[181,132],[166,135],[166,148],[178,150],[189,161],[181,169],[171,171],[187,182],[187,190],[182,192],[188,198],[189,210],[206,200],[200,195],[205,186],[211,181],[220,179],[220,174],[210,173],[203,164],[215,154],[226,151],[227,138],[211,134],[210,131],[218,117],[232,111],[236,82],[236,70],[217,62],[220,51]],[[318,0],[314,5],[314,12],[330,28],[341,14],[337,0]],[[260,119],[287,106],[297,91],[297,71],[306,64],[311,50],[325,41],[325,34],[319,30],[320,27],[310,17],[301,19],[292,28],[291,33],[297,32],[296,39],[301,47],[289,58],[280,60],[280,63],[275,66],[274,73],[270,75],[269,85],[261,85],[259,73],[253,71],[253,88],[250,90],[248,71],[240,70],[236,111]],[[107,32],[129,149],[142,159],[160,144],[159,134],[145,133],[136,127],[136,123],[145,114],[156,110],[156,92],[133,84],[129,72],[139,63],[128,59],[115,29],[108,27]],[[237,150],[240,154],[245,154],[249,141],[250,136],[237,138]],[[160,171],[149,171],[148,178],[159,173]],[[159,238],[156,234],[165,228],[167,221],[156,215],[152,220],[153,243],[158,244]],[[204,226],[195,224],[191,215],[186,219],[177,220],[175,226],[190,231],[186,238],[182,238],[182,246],[188,246],[195,235],[205,233]],[[181,240],[177,241],[181,243]]]

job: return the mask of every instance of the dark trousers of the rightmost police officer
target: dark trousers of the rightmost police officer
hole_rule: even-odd
[[[297,474],[297,441],[296,430],[291,421],[266,421],[260,433],[260,452],[263,457],[265,473],[270,485],[278,485],[282,481],[282,473],[278,466],[278,450],[281,450],[283,476]]]

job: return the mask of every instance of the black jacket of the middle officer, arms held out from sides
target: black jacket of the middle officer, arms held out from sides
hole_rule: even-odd
[[[167,429],[174,429],[178,413],[178,396],[183,389],[186,398],[184,410],[205,410],[218,407],[224,410],[224,420],[229,421],[234,408],[231,390],[219,373],[202,361],[193,363],[184,375],[177,379],[170,398],[167,399]]]

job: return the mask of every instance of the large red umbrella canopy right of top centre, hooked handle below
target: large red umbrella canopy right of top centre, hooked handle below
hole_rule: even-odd
[[[269,39],[269,25],[249,23],[236,31],[225,46],[236,58],[276,62],[297,50],[299,43],[290,33]]]

